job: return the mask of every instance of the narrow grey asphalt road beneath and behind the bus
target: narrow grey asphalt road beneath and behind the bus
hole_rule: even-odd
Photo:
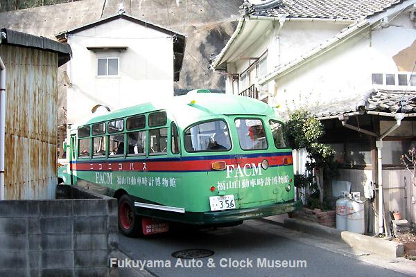
[[[261,224],[262,227],[257,228],[257,224]],[[340,253],[284,238],[278,233],[262,230],[264,228],[263,222],[250,220],[234,227],[204,231],[181,229],[145,238],[126,238],[119,235],[119,249],[132,260],[150,260],[146,269],[151,274],[161,277],[406,276]],[[184,249],[208,249],[214,251],[214,255],[198,259],[199,262],[178,262],[177,258],[171,256],[173,252]],[[162,262],[157,264],[155,260]],[[293,262],[289,261],[302,261],[298,263],[302,267],[283,267],[285,260],[288,261],[288,265],[293,265]],[[246,265],[248,267],[245,267]],[[272,267],[273,265],[275,267]],[[280,267],[277,267],[278,265]]]

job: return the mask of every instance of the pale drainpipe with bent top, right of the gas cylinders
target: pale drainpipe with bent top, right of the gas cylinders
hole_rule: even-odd
[[[377,171],[379,179],[379,233],[384,233],[383,229],[383,217],[384,217],[384,202],[383,202],[383,159],[381,157],[381,150],[383,149],[383,139],[388,136],[391,132],[397,129],[401,125],[401,120],[405,117],[405,114],[395,114],[396,124],[390,127],[387,131],[379,136],[376,141],[377,148]],[[387,230],[386,230],[387,231]]]

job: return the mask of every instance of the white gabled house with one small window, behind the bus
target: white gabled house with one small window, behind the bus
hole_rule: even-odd
[[[67,124],[91,117],[97,107],[121,109],[173,96],[184,35],[121,11],[56,37],[73,51],[65,78]]]

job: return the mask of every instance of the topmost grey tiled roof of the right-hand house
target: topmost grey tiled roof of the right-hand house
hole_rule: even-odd
[[[321,19],[361,20],[383,12],[404,0],[283,0],[275,1],[274,7],[245,3],[241,8],[249,15],[266,17],[304,17]]]

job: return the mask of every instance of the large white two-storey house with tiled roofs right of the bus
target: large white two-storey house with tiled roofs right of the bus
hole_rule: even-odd
[[[416,1],[252,2],[211,64],[226,92],[318,116],[340,179],[362,195],[375,184],[367,231],[383,232],[378,211],[416,222],[416,187],[400,161],[416,137]]]

